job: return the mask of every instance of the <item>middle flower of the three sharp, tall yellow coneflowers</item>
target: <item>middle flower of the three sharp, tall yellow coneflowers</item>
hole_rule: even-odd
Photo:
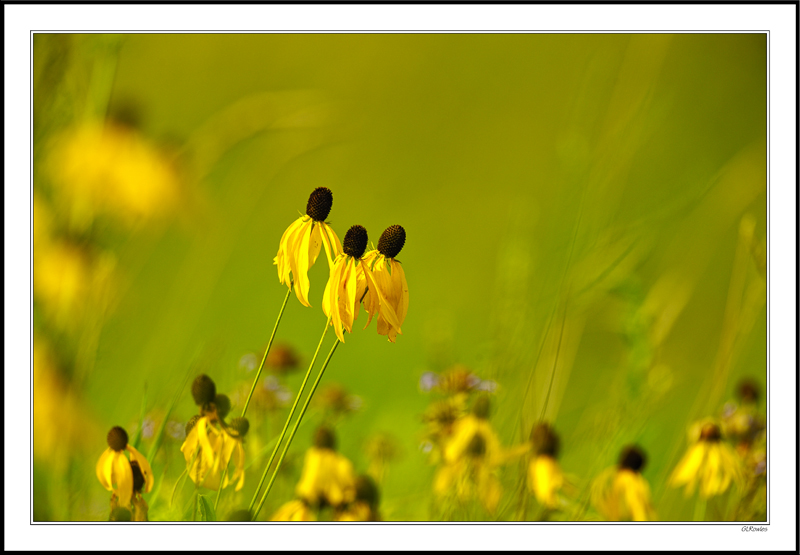
[[[380,313],[400,333],[400,324],[394,308],[383,297],[382,290],[372,276],[372,270],[362,258],[367,248],[367,240],[367,230],[362,226],[354,225],[347,230],[342,247],[344,252],[333,262],[333,269],[322,298],[322,310],[331,319],[336,337],[342,343],[344,343],[343,330],[352,333],[353,321],[358,318],[359,306],[367,287],[375,292],[369,296],[365,305],[367,312],[370,316]]]

